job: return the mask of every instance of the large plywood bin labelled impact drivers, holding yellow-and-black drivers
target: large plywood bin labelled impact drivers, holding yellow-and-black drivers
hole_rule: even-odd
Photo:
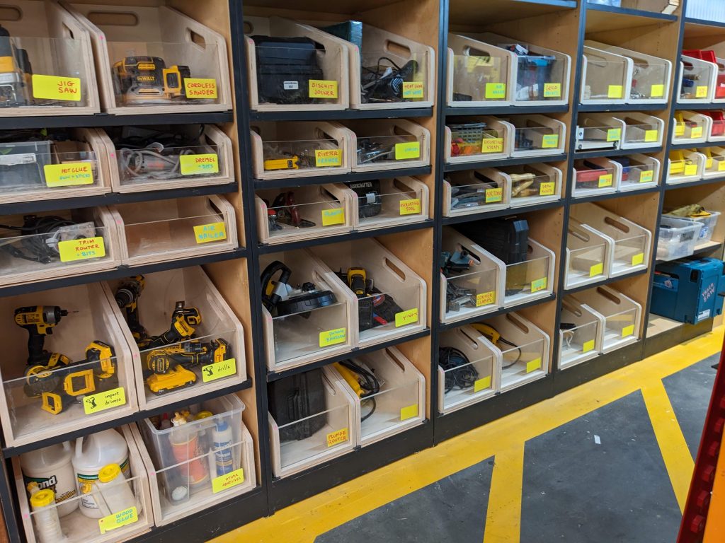
[[[49,311],[59,306],[69,312],[61,317],[53,334],[45,337],[44,348],[50,353],[67,356],[73,364],[49,371],[47,384],[38,382],[39,388],[36,388],[32,384],[26,386],[28,332],[15,324],[14,311],[38,303]],[[6,353],[0,363],[3,380],[0,421],[7,447],[74,432],[138,410],[129,347],[133,338],[118,323],[118,308],[115,303],[109,303],[101,285],[90,283],[0,298],[0,315],[5,323],[0,329],[3,330]],[[86,349],[92,342],[103,342],[112,348],[112,358],[102,358],[102,364],[87,362]],[[68,374],[74,378],[72,382],[65,381],[67,367],[74,371]],[[63,395],[64,384],[65,390],[78,394]],[[49,395],[43,398],[42,392],[49,392]],[[60,396],[62,405],[57,406],[60,409],[46,410],[42,407],[43,402],[52,408],[52,395]],[[107,407],[93,411],[91,404],[94,401],[96,405]],[[59,412],[54,414],[52,411]]]

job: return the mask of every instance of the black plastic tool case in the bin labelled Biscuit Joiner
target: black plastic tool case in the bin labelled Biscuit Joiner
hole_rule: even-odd
[[[310,80],[323,79],[315,42],[310,38],[253,35],[257,57],[257,93],[268,104],[315,104]]]

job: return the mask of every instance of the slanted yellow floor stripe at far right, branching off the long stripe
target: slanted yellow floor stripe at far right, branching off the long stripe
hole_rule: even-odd
[[[662,458],[665,460],[667,473],[670,476],[672,489],[675,492],[680,511],[684,511],[687,492],[692,479],[695,461],[689,453],[682,429],[677,422],[674,409],[667,396],[665,385],[661,382],[650,382],[642,387],[647,412],[650,413],[655,436]]]

